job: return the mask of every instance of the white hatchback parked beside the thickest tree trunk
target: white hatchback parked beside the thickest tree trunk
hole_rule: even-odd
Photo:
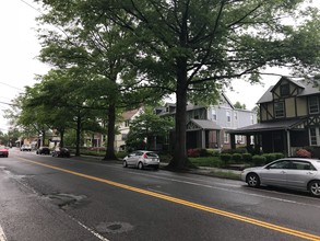
[[[123,168],[127,168],[128,165],[135,167],[138,169],[144,169],[146,167],[158,169],[159,157],[153,151],[133,151],[123,158]]]

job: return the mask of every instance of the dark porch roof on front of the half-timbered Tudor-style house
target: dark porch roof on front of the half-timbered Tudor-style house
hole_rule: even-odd
[[[277,120],[277,122],[268,122],[268,123],[258,123],[250,126],[245,126],[235,130],[229,130],[230,134],[250,134],[250,133],[261,133],[261,131],[270,131],[270,130],[284,130],[292,129],[297,125],[301,124],[305,119],[295,118],[287,120]]]

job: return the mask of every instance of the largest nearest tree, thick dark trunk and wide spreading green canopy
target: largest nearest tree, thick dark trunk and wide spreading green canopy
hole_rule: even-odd
[[[63,68],[75,64],[90,71],[97,68],[94,72],[108,79],[126,73],[122,80],[130,79],[131,85],[118,85],[117,94],[135,88],[176,94],[173,168],[188,165],[185,124],[189,100],[214,101],[237,78],[259,82],[266,66],[300,72],[319,67],[319,11],[303,8],[304,0],[38,1],[49,12],[44,20],[64,31],[45,36],[47,49],[54,48],[44,49],[44,60]],[[294,19],[299,21],[288,23]],[[63,34],[67,36],[61,37]],[[104,45],[102,39],[109,36],[119,41],[116,48]],[[66,53],[79,61],[64,59]],[[128,68],[108,71],[109,55],[126,59]]]

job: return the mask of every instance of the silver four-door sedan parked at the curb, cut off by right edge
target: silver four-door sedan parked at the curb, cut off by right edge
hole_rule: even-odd
[[[245,169],[241,180],[251,187],[280,186],[308,191],[320,197],[320,160],[284,158],[264,167]]]

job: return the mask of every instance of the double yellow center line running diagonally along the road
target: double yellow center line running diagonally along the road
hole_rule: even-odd
[[[223,216],[223,217],[227,217],[227,218],[236,219],[236,220],[239,220],[239,221],[248,222],[248,223],[251,223],[251,225],[254,225],[254,226],[260,226],[262,228],[271,229],[271,230],[278,231],[278,232],[282,232],[282,233],[286,233],[286,234],[289,234],[289,236],[303,238],[303,239],[306,239],[306,240],[313,240],[313,241],[318,240],[318,241],[320,241],[320,236],[315,236],[315,234],[311,234],[311,233],[301,232],[301,231],[298,231],[298,230],[281,227],[281,226],[277,226],[277,225],[273,225],[273,223],[270,223],[270,222],[265,222],[265,221],[261,221],[261,220],[258,220],[258,219],[249,218],[249,217],[246,217],[246,216],[233,214],[233,213],[229,213],[229,211],[220,210],[220,209],[216,209],[216,208],[213,208],[213,207],[195,204],[195,203],[183,200],[183,199],[176,198],[176,197],[170,197],[170,196],[167,196],[167,195],[164,195],[164,194],[159,194],[159,193],[155,193],[155,192],[151,192],[151,191],[129,186],[129,185],[126,185],[126,184],[112,182],[112,181],[109,181],[109,180],[106,180],[106,179],[100,179],[100,177],[96,177],[96,176],[92,176],[92,175],[86,175],[86,174],[83,174],[83,173],[80,173],[80,172],[73,172],[73,171],[70,171],[70,170],[67,170],[67,169],[61,169],[61,168],[57,168],[57,167],[54,167],[54,165],[44,164],[44,163],[40,163],[40,162],[24,159],[24,158],[20,158],[20,159],[23,160],[23,161],[29,162],[29,163],[37,164],[37,165],[43,165],[43,167],[46,167],[46,168],[49,168],[49,169],[54,169],[54,170],[58,170],[58,171],[66,172],[66,173],[69,173],[69,174],[78,175],[78,176],[81,176],[81,177],[84,177],[84,179],[106,183],[106,184],[117,186],[117,187],[120,187],[120,188],[123,188],[123,190],[129,190],[129,191],[132,191],[132,192],[135,192],[135,193],[145,194],[145,195],[149,195],[149,196],[153,196],[153,197],[161,198],[161,199],[164,199],[164,200],[168,200],[168,202],[185,205],[185,206],[188,206],[188,207],[197,208],[197,209],[208,211],[208,213],[212,213],[212,214],[215,214],[215,215],[220,215],[220,216]]]

